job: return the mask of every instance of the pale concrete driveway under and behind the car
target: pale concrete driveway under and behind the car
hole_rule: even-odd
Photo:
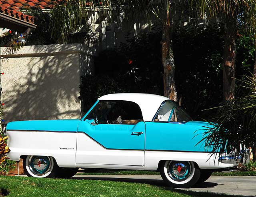
[[[124,181],[166,186],[159,175],[75,175],[72,179]],[[206,182],[185,190],[256,197],[256,177],[211,176]]]

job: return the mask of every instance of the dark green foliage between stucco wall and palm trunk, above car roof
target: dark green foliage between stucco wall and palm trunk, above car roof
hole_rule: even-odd
[[[95,76],[83,76],[80,99],[84,113],[97,98],[112,93],[163,94],[159,33],[128,39],[95,58]]]

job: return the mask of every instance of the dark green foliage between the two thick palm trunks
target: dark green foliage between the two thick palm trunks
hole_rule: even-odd
[[[182,106],[193,119],[222,101],[222,26],[180,28],[174,32],[176,86]]]

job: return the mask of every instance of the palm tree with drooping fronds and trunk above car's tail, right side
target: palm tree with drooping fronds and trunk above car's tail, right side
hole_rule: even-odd
[[[223,51],[224,100],[234,99],[236,38],[239,24],[244,23],[244,14],[250,10],[248,1],[254,0],[191,0],[201,17],[215,18],[225,24]]]

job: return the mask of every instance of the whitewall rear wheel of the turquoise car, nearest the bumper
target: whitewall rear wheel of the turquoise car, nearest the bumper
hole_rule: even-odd
[[[160,174],[171,187],[191,187],[198,181],[200,170],[191,161],[165,161]]]

